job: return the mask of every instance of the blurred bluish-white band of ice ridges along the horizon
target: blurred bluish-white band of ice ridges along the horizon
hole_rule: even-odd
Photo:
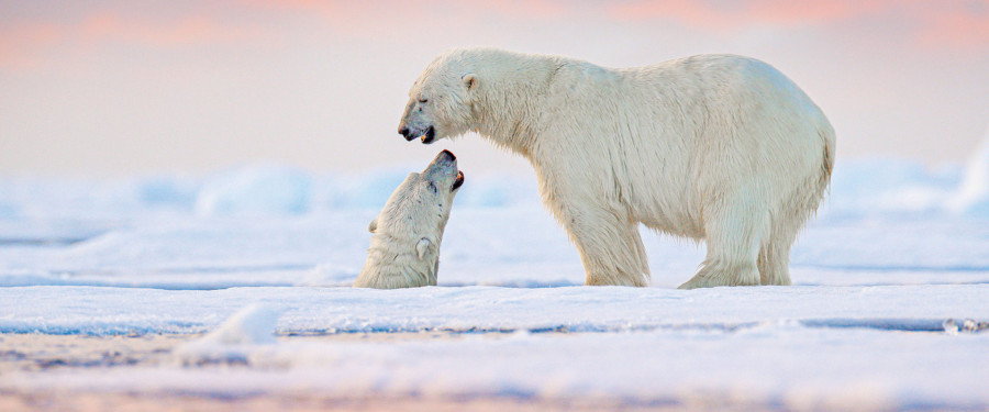
[[[989,136],[967,170],[896,158],[840,160],[822,218],[989,218]],[[466,167],[466,165],[465,165]],[[455,209],[542,209],[531,172],[477,172]],[[0,220],[87,220],[129,223],[174,216],[331,215],[380,210],[416,165],[313,175],[260,165],[205,178],[181,175],[122,180],[0,177]],[[454,212],[457,213],[457,212]]]

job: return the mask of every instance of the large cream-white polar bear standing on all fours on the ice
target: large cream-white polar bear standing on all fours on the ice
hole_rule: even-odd
[[[834,163],[821,110],[781,73],[741,56],[609,69],[454,49],[409,94],[407,140],[470,131],[532,163],[587,285],[648,283],[638,223],[707,242],[680,288],[789,285],[790,246]]]

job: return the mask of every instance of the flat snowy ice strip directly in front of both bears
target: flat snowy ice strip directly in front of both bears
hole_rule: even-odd
[[[396,291],[23,287],[0,289],[0,332],[202,333],[220,326],[246,303],[274,309],[237,314],[210,339],[256,342],[257,336],[270,332],[734,332],[764,324],[943,332],[948,320],[959,324],[989,320],[987,296],[986,283],[722,288],[698,292],[620,287],[433,287]],[[281,316],[275,327],[266,329],[273,324],[273,313],[278,312]]]

